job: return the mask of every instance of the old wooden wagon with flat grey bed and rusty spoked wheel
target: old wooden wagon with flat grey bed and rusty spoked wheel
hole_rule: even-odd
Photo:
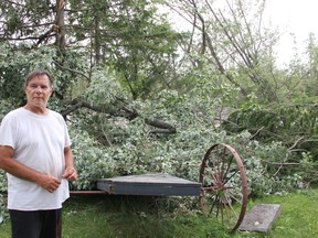
[[[235,149],[224,143],[214,144],[206,151],[199,182],[149,173],[100,178],[97,188],[117,195],[198,196],[203,212],[215,216],[231,231],[240,227],[247,205],[243,161]]]

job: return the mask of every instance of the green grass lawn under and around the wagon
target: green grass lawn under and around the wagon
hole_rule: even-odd
[[[271,231],[231,235],[213,218],[203,216],[193,197],[181,203],[173,197],[74,195],[64,204],[63,238],[318,237],[318,190],[250,201],[248,209],[257,204],[283,207]],[[0,238],[10,238],[10,220],[0,225]]]

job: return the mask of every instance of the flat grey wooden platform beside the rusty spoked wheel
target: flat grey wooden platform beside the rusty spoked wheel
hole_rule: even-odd
[[[127,175],[97,181],[97,188],[118,195],[199,196],[201,183],[162,173]]]

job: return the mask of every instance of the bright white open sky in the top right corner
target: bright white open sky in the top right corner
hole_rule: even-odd
[[[278,64],[288,63],[293,57],[292,34],[300,55],[306,51],[310,32],[318,39],[318,0],[267,0],[265,17],[283,34],[276,50]]]

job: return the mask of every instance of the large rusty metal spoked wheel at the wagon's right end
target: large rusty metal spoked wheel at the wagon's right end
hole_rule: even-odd
[[[202,161],[199,181],[203,212],[235,231],[247,205],[247,177],[239,153],[227,144],[212,145]]]

